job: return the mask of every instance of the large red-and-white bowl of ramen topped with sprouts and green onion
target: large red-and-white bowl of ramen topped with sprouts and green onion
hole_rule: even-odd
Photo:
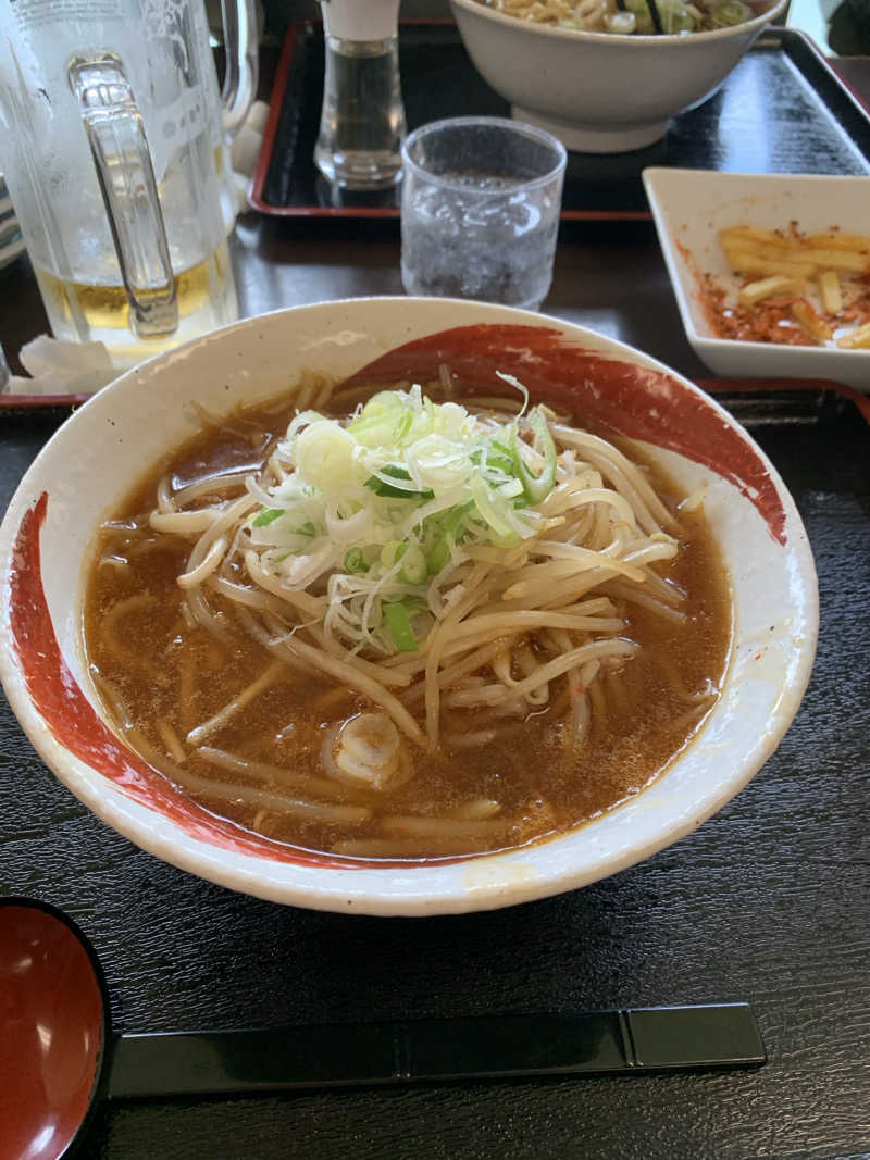
[[[63,783],[176,867],[342,913],[507,906],[688,834],[783,737],[818,625],[795,505],[715,401],[449,299],[123,375],[0,550],[0,675]]]

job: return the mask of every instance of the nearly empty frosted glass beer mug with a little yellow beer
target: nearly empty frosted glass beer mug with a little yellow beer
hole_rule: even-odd
[[[254,0],[0,0],[0,167],[56,338],[119,368],[238,318],[227,133],[256,84]]]

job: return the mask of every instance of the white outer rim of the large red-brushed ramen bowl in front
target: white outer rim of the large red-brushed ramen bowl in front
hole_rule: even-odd
[[[570,843],[571,839],[587,831],[589,822],[557,835],[553,839],[544,840],[531,847],[506,850],[495,854],[484,854],[471,857],[459,863],[471,868],[470,873],[478,876],[476,885],[469,887],[465,879],[459,879],[454,873],[447,871],[456,870],[456,865],[448,867],[438,861],[414,865],[412,875],[414,882],[403,886],[397,891],[396,870],[389,865],[374,870],[368,867],[360,869],[333,869],[332,867],[302,868],[306,872],[298,873],[300,868],[296,865],[282,865],[271,860],[254,858],[251,856],[232,855],[224,857],[224,851],[215,843],[191,838],[181,827],[151,807],[133,802],[121,793],[114,783],[107,782],[104,776],[74,756],[58,741],[51,733],[46,722],[32,703],[30,695],[20,675],[19,667],[13,659],[13,647],[10,647],[12,635],[9,631],[8,600],[0,601],[0,641],[6,647],[0,647],[0,682],[2,683],[9,704],[15,712],[24,732],[34,745],[41,757],[46,762],[53,775],[74,796],[77,796],[93,813],[106,821],[117,833],[128,838],[142,849],[160,857],[161,860],[205,878],[212,883],[249,893],[254,897],[269,899],[273,901],[297,905],[306,908],[335,911],[340,913],[364,913],[378,915],[425,915],[425,914],[449,914],[466,913],[471,911],[493,909],[502,906],[516,905],[519,902],[531,901],[575,890],[580,886],[597,882],[610,875],[628,869],[651,857],[661,849],[673,844],[679,839],[693,832],[704,820],[720,810],[730,802],[761,769],[770,754],[776,749],[783,735],[788,731],[791,722],[800,705],[806,684],[812,672],[814,661],[815,641],[819,625],[818,587],[812,552],[809,546],[803,522],[797,507],[788,488],[782,481],[776,467],[770,463],[763,450],[755,444],[748,433],[722,407],[715,399],[682,375],[666,364],[652,358],[623,343],[616,339],[602,335],[588,327],[553,318],[536,312],[517,310],[514,307],[493,306],[474,302],[459,299],[427,299],[408,297],[368,297],[339,299],[325,303],[306,304],[302,306],[287,307],[271,311],[268,314],[242,319],[219,331],[212,332],[200,339],[191,339],[188,342],[155,355],[146,363],[133,368],[121,375],[109,386],[97,392],[85,406],[73,413],[58,432],[52,435],[45,447],[39,451],[34,463],[16,490],[9,508],[0,524],[0,558],[9,558],[9,549],[17,534],[21,519],[29,509],[34,500],[35,477],[42,465],[53,454],[52,445],[63,432],[68,432],[73,425],[84,425],[87,416],[94,416],[108,412],[109,405],[114,401],[114,396],[122,391],[143,391],[148,376],[159,375],[165,364],[180,360],[184,362],[190,351],[197,347],[211,346],[232,341],[240,331],[251,329],[258,325],[277,325],[288,316],[304,318],[306,314],[318,312],[332,313],[361,309],[364,311],[372,307],[377,311],[390,313],[400,309],[411,309],[421,312],[421,317],[428,318],[429,313],[437,305],[454,307],[457,313],[469,313],[465,322],[451,322],[448,325],[469,325],[474,321],[494,321],[516,325],[534,325],[537,327],[554,327],[572,338],[579,338],[592,346],[594,350],[611,357],[623,357],[629,362],[639,363],[665,371],[667,375],[686,385],[691,393],[699,396],[705,406],[713,415],[722,419],[723,423],[737,429],[741,441],[751,447],[762,466],[769,472],[771,483],[781,499],[786,519],[786,527],[790,530],[791,565],[795,575],[799,579],[800,602],[803,614],[800,621],[804,630],[803,645],[796,651],[796,661],[789,667],[788,677],[778,682],[780,698],[777,704],[788,702],[784,716],[776,717],[776,726],[767,730],[761,738],[754,738],[752,745],[744,745],[740,752],[740,762],[737,774],[732,774],[726,780],[719,781],[706,791],[703,802],[694,802],[691,809],[668,817],[668,825],[659,828],[652,839],[644,838],[639,843],[626,849],[624,843],[611,842],[609,847],[594,851],[595,857],[587,864],[567,867],[559,857],[548,858],[548,851],[556,850],[560,843],[563,848]],[[435,319],[432,326],[421,324],[414,334],[434,334],[444,329],[444,322]],[[412,332],[408,326],[408,333]],[[592,340],[592,342],[589,342]],[[391,342],[387,349],[396,345]],[[400,343],[399,343],[400,345]],[[264,397],[264,396],[263,396]],[[38,487],[36,488],[38,491]],[[81,581],[79,581],[81,583]],[[5,583],[5,581],[3,581]],[[6,588],[0,589],[0,595],[5,595]],[[732,661],[733,662],[733,661]],[[731,662],[730,662],[731,664]],[[703,731],[698,737],[693,738],[691,746],[699,742]],[[672,757],[669,767],[676,755]],[[661,776],[666,776],[667,769]],[[660,783],[661,776],[648,786],[653,790]],[[647,789],[637,795],[631,802],[643,800]],[[625,803],[623,803],[624,805]],[[604,814],[604,818],[618,814],[621,805]],[[593,819],[593,822],[596,819]],[[590,843],[593,847],[595,842]],[[524,867],[523,858],[530,853],[532,857],[536,851],[544,851],[541,855],[548,863],[548,872],[544,875],[515,876],[517,867]],[[288,877],[288,871],[295,873]],[[408,876],[406,873],[405,882]]]

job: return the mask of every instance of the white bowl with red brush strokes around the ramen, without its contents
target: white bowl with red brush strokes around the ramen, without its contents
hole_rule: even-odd
[[[202,408],[271,399],[317,368],[389,368],[426,382],[448,363],[484,384],[522,376],[640,442],[704,512],[733,592],[720,696],[641,792],[587,824],[513,850],[384,861],[282,844],[204,810],[111,727],[82,655],[86,563],[101,522]],[[689,834],[757,773],[797,712],[818,600],[806,535],[775,469],[712,399],[666,367],[585,328],[452,299],[324,303],[248,319],[121,376],[73,414],[22,480],[0,528],[0,676],[45,764],[107,825],[230,889],[345,914],[488,909],[585,886]],[[521,741],[516,742],[521,745]]]

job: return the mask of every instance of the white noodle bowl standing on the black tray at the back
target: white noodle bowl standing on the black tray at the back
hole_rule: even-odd
[[[619,153],[662,138],[672,117],[719,87],[786,0],[658,5],[664,21],[676,13],[666,28],[682,27],[689,12],[710,15],[697,19],[701,31],[621,35],[604,30],[604,21],[625,15],[616,0],[451,0],[474,67],[510,102],[513,116],[583,153]],[[734,8],[744,9],[746,19],[718,27],[723,6],[732,19]],[[645,0],[626,7],[643,12]]]

